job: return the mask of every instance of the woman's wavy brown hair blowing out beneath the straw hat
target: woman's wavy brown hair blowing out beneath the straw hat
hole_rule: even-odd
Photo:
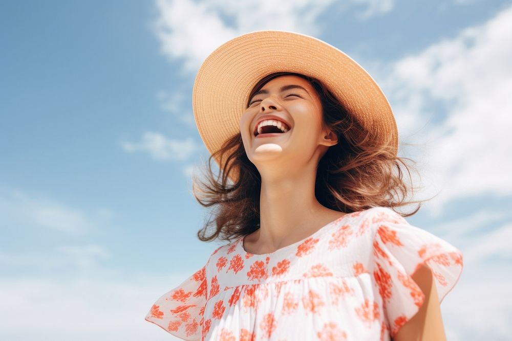
[[[395,155],[391,134],[389,141],[376,145],[373,142],[375,136],[349,115],[321,81],[302,74],[274,73],[253,87],[249,100],[268,81],[283,75],[299,76],[311,83],[322,102],[322,123],[338,137],[338,143],[329,147],[318,162],[315,183],[318,202],[345,213],[377,206],[394,209],[418,203],[411,213],[397,213],[408,217],[418,212],[421,202],[426,200],[406,200],[415,187],[412,186],[409,170],[412,167],[404,161],[412,160]],[[226,160],[224,167],[218,169],[217,177],[211,168],[212,160],[217,165],[216,156]],[[405,172],[401,165],[409,174],[411,186],[402,179]],[[203,179],[193,175],[193,195],[203,207],[212,207],[212,218],[198,231],[198,238],[201,241],[230,241],[259,229],[261,176],[245,153],[240,132],[227,139],[220,150],[209,156],[204,171]],[[233,183],[229,177],[234,174],[237,180]]]

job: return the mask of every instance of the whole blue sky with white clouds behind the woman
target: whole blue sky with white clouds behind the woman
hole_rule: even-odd
[[[449,339],[512,333],[512,2],[269,4],[0,4],[1,339],[172,339],[147,309],[220,245],[196,238],[194,77],[262,29],[323,39],[381,85],[418,198],[439,193],[408,221],[465,256]]]

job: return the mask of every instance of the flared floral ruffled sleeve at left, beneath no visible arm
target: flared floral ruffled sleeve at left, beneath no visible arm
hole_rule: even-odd
[[[145,320],[184,340],[199,340],[207,299],[206,265],[163,294]]]

